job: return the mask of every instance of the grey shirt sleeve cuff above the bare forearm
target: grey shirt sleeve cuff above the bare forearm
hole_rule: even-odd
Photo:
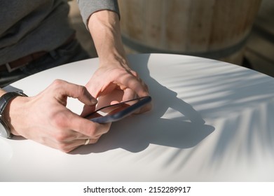
[[[99,10],[111,10],[119,15],[117,0],[77,0],[81,16],[85,26],[88,25],[88,18]]]

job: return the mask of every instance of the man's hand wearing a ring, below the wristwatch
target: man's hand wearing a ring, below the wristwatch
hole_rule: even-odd
[[[109,131],[110,123],[100,125],[66,108],[73,97],[95,108],[97,100],[81,85],[55,80],[34,97],[15,97],[5,109],[5,120],[14,135],[69,152],[85,144],[94,144]]]

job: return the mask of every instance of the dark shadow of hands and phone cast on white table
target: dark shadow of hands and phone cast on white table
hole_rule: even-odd
[[[149,144],[191,148],[214,131],[214,127],[205,125],[200,113],[190,104],[177,98],[176,92],[150,76],[149,56],[142,55],[142,59],[135,59],[136,56],[133,55],[129,60],[132,69],[149,85],[153,101],[152,111],[113,123],[111,130],[103,135],[97,144],[81,146],[71,154],[102,153],[116,148],[137,153],[146,149]],[[182,118],[162,118],[169,108],[179,111]]]

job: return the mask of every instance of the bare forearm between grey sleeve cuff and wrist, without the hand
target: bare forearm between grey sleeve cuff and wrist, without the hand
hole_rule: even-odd
[[[109,10],[93,13],[88,20],[88,29],[93,37],[100,65],[119,62],[127,66],[117,13]]]

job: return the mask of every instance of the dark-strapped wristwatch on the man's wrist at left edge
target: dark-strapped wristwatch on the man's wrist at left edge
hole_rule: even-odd
[[[2,115],[4,113],[4,109],[6,108],[8,102],[11,102],[12,99],[18,96],[27,97],[27,95],[22,92],[7,92],[0,97],[0,136],[1,137],[5,137],[5,138],[12,137],[11,130],[8,127],[8,124],[3,119]]]

